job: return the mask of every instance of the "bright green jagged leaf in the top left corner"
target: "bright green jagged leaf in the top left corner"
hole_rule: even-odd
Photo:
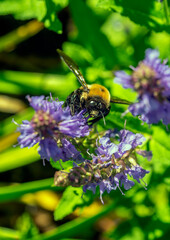
[[[66,7],[68,0],[2,0],[0,1],[0,14],[13,14],[16,19],[26,20],[37,18],[44,22],[45,27],[62,33],[62,25],[57,12]]]

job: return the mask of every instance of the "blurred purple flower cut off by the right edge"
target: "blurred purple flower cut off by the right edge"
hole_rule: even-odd
[[[132,88],[138,93],[138,102],[129,106],[134,116],[148,124],[170,123],[170,68],[166,61],[161,63],[159,52],[147,49],[145,59],[136,68],[132,67],[131,76],[124,71],[115,73],[116,83],[124,88]]]

